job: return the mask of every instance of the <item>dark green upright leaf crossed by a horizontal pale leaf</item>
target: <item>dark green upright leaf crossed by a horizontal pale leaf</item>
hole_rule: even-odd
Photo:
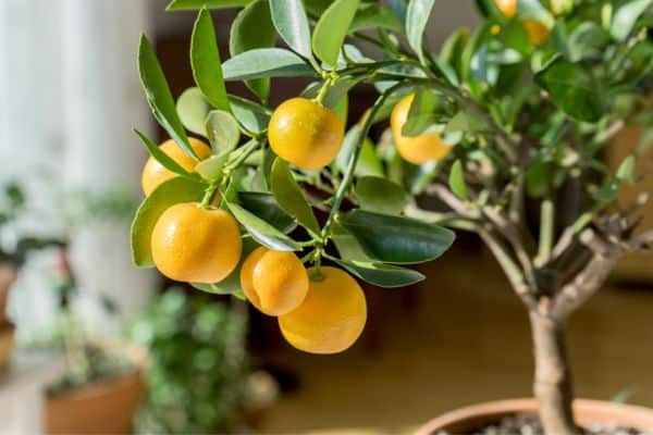
[[[252,32],[252,28],[256,32]],[[256,48],[273,47],[275,36],[268,0],[257,0],[242,10],[232,24],[229,39],[231,55]],[[270,79],[257,78],[246,80],[245,84],[261,101],[268,101]]]

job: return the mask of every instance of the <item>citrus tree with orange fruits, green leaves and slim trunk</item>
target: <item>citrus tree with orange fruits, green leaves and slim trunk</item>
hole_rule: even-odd
[[[246,298],[293,346],[331,353],[365,325],[356,278],[414,284],[423,276],[406,265],[473,232],[529,312],[546,432],[578,433],[566,320],[653,240],[636,235],[643,200],[616,201],[648,141],[615,173],[604,158],[624,126],[653,125],[652,3],[477,0],[480,26],[436,51],[423,39],[434,0],[173,1],[199,11],[197,86],[175,102],[143,37],[143,85],[171,139],[137,132],[151,158],[136,264]],[[211,8],[241,8],[224,62]],[[275,77],[309,85],[270,108]],[[233,80],[249,98],[227,94]],[[346,128],[356,86],[378,97]]]

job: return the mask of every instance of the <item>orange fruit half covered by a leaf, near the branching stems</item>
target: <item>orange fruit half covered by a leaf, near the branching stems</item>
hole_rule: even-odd
[[[390,127],[397,152],[404,160],[412,164],[424,164],[433,160],[442,160],[452,150],[452,146],[443,141],[439,134],[427,133],[414,137],[402,134],[414,98],[414,95],[404,97],[395,105],[390,116]]]

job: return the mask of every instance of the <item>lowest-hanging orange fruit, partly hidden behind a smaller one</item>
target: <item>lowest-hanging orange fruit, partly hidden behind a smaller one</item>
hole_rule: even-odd
[[[312,276],[315,268],[308,270]],[[304,302],[279,316],[285,339],[309,353],[337,353],[349,348],[362,333],[367,303],[362,289],[349,274],[322,266],[322,281],[310,281]]]

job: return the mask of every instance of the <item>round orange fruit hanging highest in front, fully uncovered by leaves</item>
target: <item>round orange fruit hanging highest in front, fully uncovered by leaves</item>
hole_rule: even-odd
[[[270,147],[276,156],[305,170],[331,163],[344,137],[345,127],[337,115],[305,98],[281,103],[268,125]]]

